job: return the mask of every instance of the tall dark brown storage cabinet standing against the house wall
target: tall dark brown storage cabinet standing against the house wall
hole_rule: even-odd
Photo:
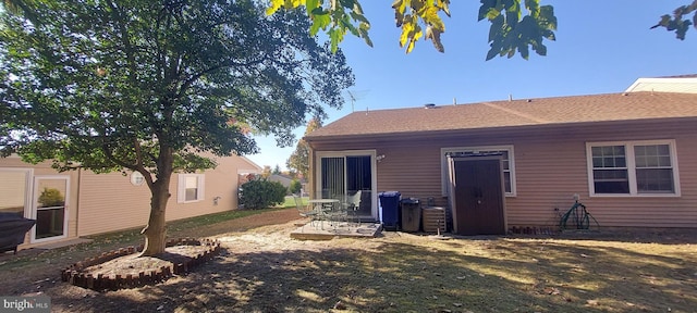
[[[503,174],[498,156],[451,159],[453,222],[458,235],[504,235]]]

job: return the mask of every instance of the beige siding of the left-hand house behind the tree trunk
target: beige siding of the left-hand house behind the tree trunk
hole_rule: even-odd
[[[178,174],[172,175],[170,181],[172,196],[167,208],[168,221],[237,209],[237,173],[240,171],[256,172],[258,166],[235,155],[213,159],[217,159],[218,166],[205,172],[203,201],[176,203]],[[33,165],[22,162],[16,156],[0,159],[0,168],[27,168],[33,171],[33,176],[70,177],[66,239],[142,227],[147,223],[150,211],[148,187],[133,186],[130,177],[121,173],[94,174],[84,170],[58,173],[50,167],[50,162]],[[220,197],[217,205],[213,204],[216,197]],[[28,238],[27,236],[26,243],[22,245],[22,248],[35,246],[28,243]]]

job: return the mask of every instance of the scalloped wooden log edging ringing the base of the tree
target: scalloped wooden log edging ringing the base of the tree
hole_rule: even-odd
[[[138,273],[137,276],[132,274],[127,274],[127,275],[99,274],[97,275],[97,277],[95,277],[91,274],[85,274],[82,272],[83,270],[89,266],[94,266],[97,264],[111,261],[117,258],[121,258],[121,256],[125,256],[129,254],[143,251],[143,245],[138,247],[131,246],[127,248],[121,248],[119,250],[105,252],[97,258],[85,259],[73,265],[70,265],[63,271],[61,271],[61,279],[63,281],[75,285],[77,287],[83,287],[83,288],[93,289],[97,291],[118,290],[118,289],[124,289],[124,288],[140,287],[145,285],[155,285],[155,284],[164,281],[174,275],[182,275],[182,274],[188,273],[194,267],[218,255],[222,250],[222,248],[220,247],[220,241],[211,240],[211,239],[199,240],[195,238],[180,238],[180,239],[170,239],[167,241],[166,247],[174,247],[174,246],[206,246],[207,248],[203,253],[198,253],[198,255],[191,258],[184,263],[172,264],[170,266],[162,266],[156,271],[144,271]]]

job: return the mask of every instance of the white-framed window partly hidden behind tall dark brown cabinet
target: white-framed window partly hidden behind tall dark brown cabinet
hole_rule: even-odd
[[[501,153],[501,168],[503,168],[503,188],[506,197],[515,197],[515,162],[513,156],[513,146],[496,146],[496,147],[465,147],[465,148],[443,148],[440,149],[441,154],[441,191],[443,196],[448,195],[448,158],[445,153]]]

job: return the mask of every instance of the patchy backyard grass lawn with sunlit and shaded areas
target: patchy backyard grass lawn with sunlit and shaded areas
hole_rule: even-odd
[[[289,221],[294,218],[294,210],[286,209],[224,221],[210,217],[217,222],[192,222],[191,227],[180,224],[176,234],[215,236],[227,251],[189,275],[156,286],[95,292],[36,279],[19,293],[44,290],[56,312],[696,312],[697,308],[694,231],[451,240],[387,231],[374,239],[299,241],[289,236],[294,228]],[[49,280],[56,279],[60,268],[41,258],[29,267],[49,268],[47,273],[54,273]],[[1,266],[3,281],[12,278],[4,274],[17,270]]]

